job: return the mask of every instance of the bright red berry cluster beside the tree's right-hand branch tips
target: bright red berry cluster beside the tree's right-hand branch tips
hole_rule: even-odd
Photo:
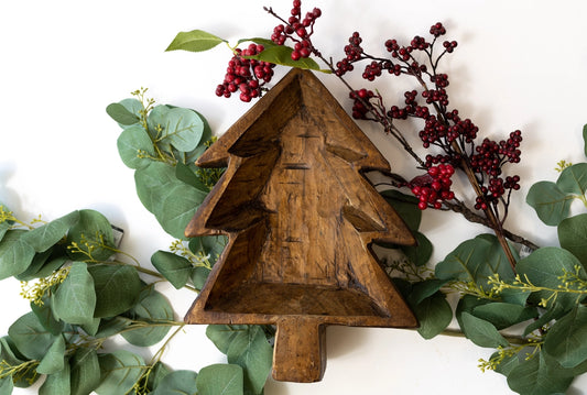
[[[455,174],[452,165],[438,165],[428,168],[428,172],[417,176],[409,184],[412,194],[420,199],[417,208],[425,210],[427,207],[439,209],[443,200],[452,200],[455,194],[450,190],[453,182],[450,177]]]

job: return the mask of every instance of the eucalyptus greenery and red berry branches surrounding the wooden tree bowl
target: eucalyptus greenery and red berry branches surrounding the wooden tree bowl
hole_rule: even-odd
[[[587,163],[559,162],[556,182],[530,188],[526,202],[546,226],[557,228],[559,241],[559,246],[535,245],[504,228],[520,178],[502,174],[506,165],[520,161],[521,133],[477,142],[472,121],[449,109],[448,76],[441,73],[439,59],[457,43],[446,40],[434,50],[446,34],[442,23],[432,25],[432,40],[417,35],[407,45],[388,40],[389,57],[369,55],[360,34],[352,33],[345,56],[335,63],[312,41],[319,9],[302,18],[301,1],[294,0],[287,19],[267,11],[280,20],[271,40],[229,45],[228,72],[216,94],[251,101],[269,88],[275,65],[329,73],[347,85],[352,116],[380,124],[424,171],[410,180],[385,174],[388,180],[379,185],[417,248],[377,249],[420,321],[418,333],[431,339],[458,332],[480,348],[494,349],[479,367],[503,374],[520,394],[564,393],[587,372],[587,212],[570,211],[576,200],[587,207]],[[249,45],[238,48],[244,42]],[[228,44],[195,30],[180,33],[167,50],[202,52],[222,43]],[[424,61],[416,58],[418,53]],[[388,106],[377,90],[351,88],[344,76],[361,62],[369,81],[387,73],[413,78],[417,89],[406,91],[403,103]],[[42,395],[263,393],[272,360],[270,326],[209,326],[206,334],[227,355],[225,364],[173,371],[162,360],[184,323],[176,320],[183,311],[174,311],[156,284],[164,281],[195,293],[203,287],[226,240],[186,239],[184,229],[222,169],[194,165],[214,142],[205,118],[192,109],[156,105],[145,91],[132,92],[107,112],[122,129],[118,151],[134,172],[141,202],[176,241],[144,265],[118,248],[116,227],[100,212],[80,209],[52,221],[25,221],[0,204],[0,279],[21,281],[22,295],[31,300],[31,311],[0,338],[0,395],[40,377]],[[423,149],[436,151],[421,158],[407,143],[399,124],[409,118],[424,121]],[[587,125],[583,135],[587,156]],[[452,189],[450,177],[458,172],[476,193],[471,207]],[[441,262],[430,262],[432,243],[418,231],[428,208],[461,213],[489,232],[463,241]],[[455,293],[453,308],[447,295]],[[453,318],[459,330],[447,329]],[[522,329],[512,336],[512,327]],[[102,345],[112,338],[161,348],[145,360],[123,347],[106,351]]]

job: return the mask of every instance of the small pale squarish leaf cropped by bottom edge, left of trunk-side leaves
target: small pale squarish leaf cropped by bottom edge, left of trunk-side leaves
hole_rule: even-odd
[[[203,367],[196,384],[199,395],[242,395],[242,367],[220,363]]]

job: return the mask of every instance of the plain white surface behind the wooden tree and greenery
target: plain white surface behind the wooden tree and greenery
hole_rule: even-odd
[[[163,233],[141,206],[132,171],[118,157],[119,128],[105,112],[112,101],[148,87],[161,103],[202,112],[222,133],[248,108],[238,99],[214,95],[230,53],[219,46],[205,54],[164,50],[180,31],[203,29],[235,43],[269,36],[276,21],[262,6],[287,15],[291,1],[11,1],[1,6],[0,23],[0,201],[21,218],[42,213],[54,219],[74,209],[97,209],[126,230],[122,249],[149,265],[166,249]],[[522,189],[514,196],[508,227],[542,245],[556,245],[554,228],[543,226],[525,206],[529,187],[554,180],[556,162],[585,161],[587,123],[587,3],[576,1],[305,1],[303,12],[320,7],[315,44],[340,58],[355,31],[366,48],[383,54],[390,37],[427,34],[442,21],[458,41],[443,69],[450,77],[452,105],[470,117],[483,135],[500,140],[523,132],[522,162],[515,169]],[[319,78],[348,109],[347,91],[336,78]],[[360,78],[351,79],[358,88]],[[378,83],[390,98],[401,98],[395,79]],[[394,89],[395,88],[395,89]],[[414,128],[409,133],[415,133]],[[361,128],[392,167],[415,174],[414,163],[377,129]],[[414,140],[415,141],[415,140]],[[424,233],[437,262],[460,241],[485,231],[453,213],[426,211]],[[194,295],[161,288],[181,319]],[[28,309],[12,279],[0,287],[0,333]],[[269,381],[268,395],[294,394],[509,394],[503,376],[481,373],[479,358],[492,350],[459,338],[425,341],[411,330],[329,328],[328,366],[317,384]],[[153,350],[155,350],[154,348]],[[148,356],[149,353],[145,353]],[[180,334],[165,353],[174,369],[222,361],[204,327]],[[36,393],[18,389],[17,394]],[[587,393],[579,377],[569,394]]]

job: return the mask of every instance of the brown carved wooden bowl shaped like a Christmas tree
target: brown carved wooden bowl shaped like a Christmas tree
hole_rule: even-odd
[[[389,164],[309,72],[287,74],[198,161],[227,166],[186,235],[229,242],[185,320],[276,325],[273,377],[314,382],[326,325],[415,327],[372,255],[414,244],[361,172]]]

